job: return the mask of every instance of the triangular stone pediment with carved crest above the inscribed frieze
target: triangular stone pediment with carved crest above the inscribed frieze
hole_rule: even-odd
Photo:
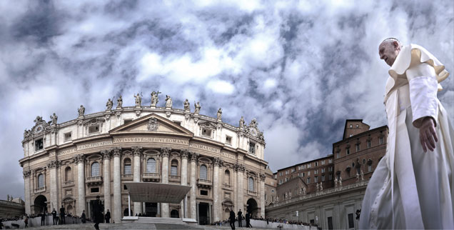
[[[139,119],[133,120],[128,124],[123,124],[109,131],[110,134],[117,133],[159,133],[159,134],[182,134],[193,136],[193,133],[183,126],[159,116],[158,114],[148,114]]]

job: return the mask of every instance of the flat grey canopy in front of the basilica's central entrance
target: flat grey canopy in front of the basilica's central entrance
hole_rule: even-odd
[[[133,202],[156,202],[179,204],[191,186],[178,184],[161,184],[151,182],[126,182]]]

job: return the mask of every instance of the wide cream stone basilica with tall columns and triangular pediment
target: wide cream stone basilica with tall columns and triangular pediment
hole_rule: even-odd
[[[22,145],[26,214],[63,205],[74,216],[83,210],[90,216],[101,196],[118,223],[128,214],[123,183],[133,181],[192,187],[186,207],[135,202],[133,215],[186,216],[199,224],[228,219],[231,209],[265,215],[268,163],[255,119],[233,126],[189,108],[120,104],[94,114],[79,109],[63,123],[38,116]]]

